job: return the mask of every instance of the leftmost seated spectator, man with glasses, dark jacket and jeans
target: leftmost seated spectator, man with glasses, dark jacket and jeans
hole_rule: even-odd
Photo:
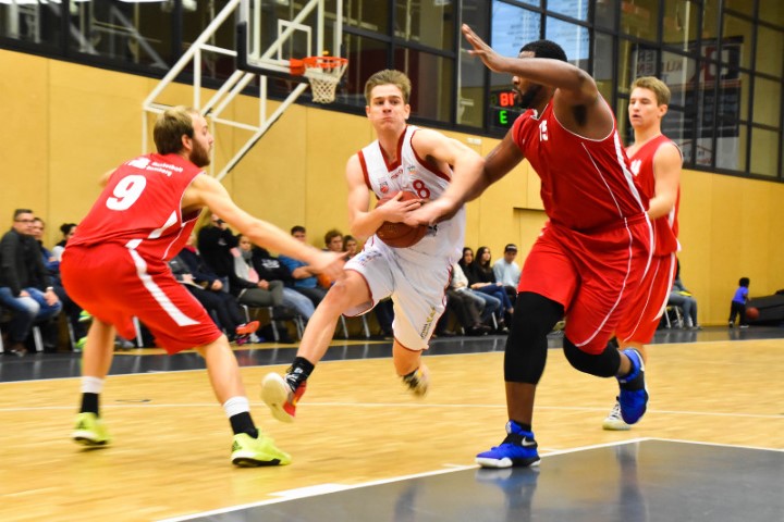
[[[12,228],[0,239],[0,304],[12,311],[10,350],[20,356],[27,352],[24,343],[33,324],[48,321],[62,309],[32,235],[33,223],[32,210],[16,209]]]

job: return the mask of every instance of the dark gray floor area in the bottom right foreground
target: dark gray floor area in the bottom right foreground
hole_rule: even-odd
[[[640,440],[176,520],[777,522],[784,451]]]

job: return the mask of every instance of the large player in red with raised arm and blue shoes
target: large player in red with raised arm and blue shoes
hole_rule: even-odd
[[[501,445],[477,455],[482,467],[539,463],[531,430],[536,387],[544,370],[547,334],[565,315],[564,353],[577,370],[616,376],[627,422],[648,400],[639,352],[609,346],[627,296],[650,259],[647,198],[637,190],[612,110],[593,78],[566,62],[548,40],[523,47],[518,58],[499,55],[468,26],[463,34],[492,71],[513,75],[522,114],[474,178],[455,179],[442,198],[409,221],[437,222],[478,197],[523,159],[541,178],[549,217],[518,286],[506,340],[504,381],[509,422]]]

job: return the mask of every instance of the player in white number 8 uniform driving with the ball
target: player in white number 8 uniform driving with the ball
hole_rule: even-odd
[[[261,397],[280,421],[294,420],[296,402],[327,352],[340,315],[360,315],[389,296],[394,303],[395,371],[414,395],[427,391],[428,372],[420,356],[444,310],[451,266],[463,248],[465,211],[461,208],[408,248],[389,247],[375,234],[383,222],[401,223],[438,198],[452,176],[478,175],[483,160],[441,133],[407,125],[409,95],[411,80],[400,71],[378,72],[365,84],[365,111],[378,139],[351,157],[346,179],[351,234],[369,239],[316,309],[285,377],[271,373],[264,380]],[[419,199],[402,201],[397,195],[376,207],[369,190],[379,199],[401,191]]]

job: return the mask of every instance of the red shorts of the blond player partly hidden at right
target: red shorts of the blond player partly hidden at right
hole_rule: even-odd
[[[630,296],[626,312],[615,327],[618,340],[647,345],[653,338],[670,298],[675,264],[674,252],[651,259],[650,269]]]

